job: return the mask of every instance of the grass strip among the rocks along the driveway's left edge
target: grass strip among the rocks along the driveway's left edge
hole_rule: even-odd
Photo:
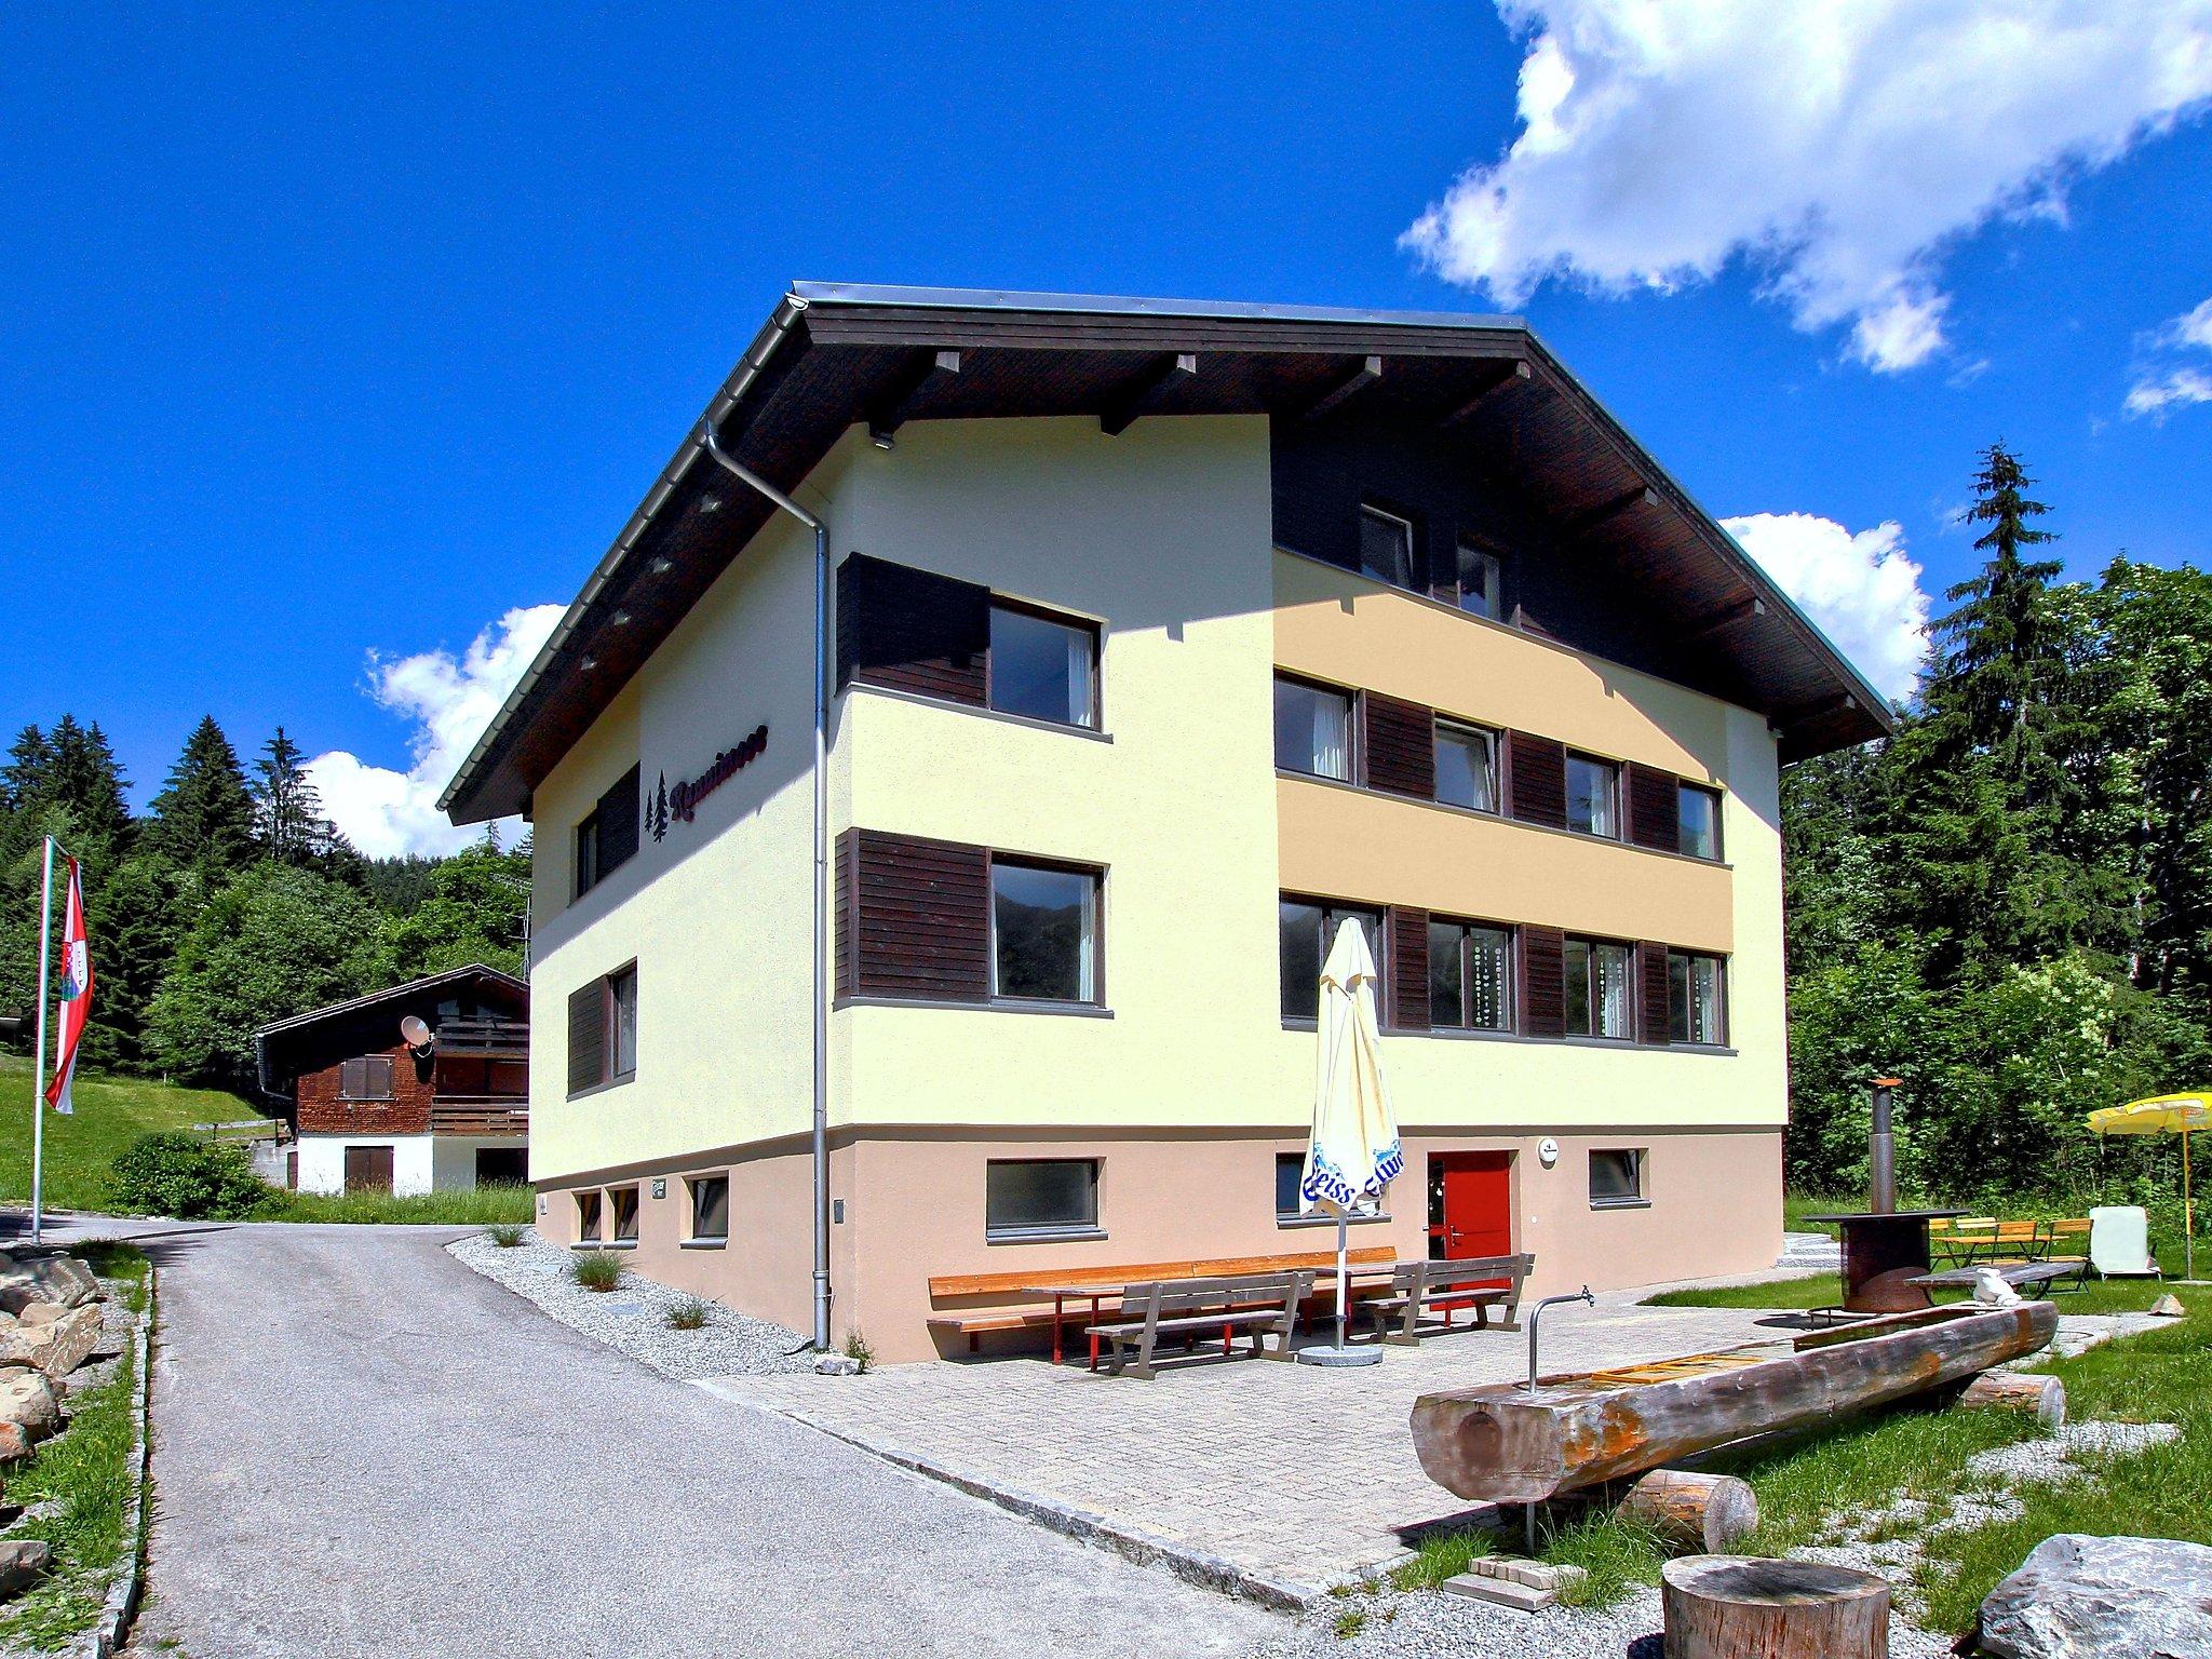
[[[146,1256],[131,1245],[93,1243],[82,1254],[102,1279],[122,1279],[128,1305],[146,1312]],[[69,1431],[46,1440],[9,1471],[11,1504],[42,1513],[7,1537],[42,1537],[53,1564],[40,1584],[0,1613],[0,1648],[60,1652],[100,1617],[108,1584],[137,1540],[128,1531],[139,1469],[131,1458],[137,1356],[126,1349],[115,1371],[73,1389]]]

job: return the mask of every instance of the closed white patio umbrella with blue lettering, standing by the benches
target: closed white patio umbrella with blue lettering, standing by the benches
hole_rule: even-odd
[[[1352,1212],[1383,1197],[1405,1168],[1398,1115],[1383,1082],[1383,1035],[1376,1024],[1376,960],[1356,920],[1336,929],[1321,967],[1321,1053],[1314,1068],[1314,1128],[1298,1175],[1301,1214],[1336,1217],[1336,1356],[1347,1352],[1352,1287],[1345,1276],[1345,1232]]]

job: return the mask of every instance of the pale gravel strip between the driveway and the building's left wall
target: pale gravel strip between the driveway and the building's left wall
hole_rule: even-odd
[[[624,1272],[615,1290],[584,1290],[568,1274],[575,1252],[542,1243],[535,1232],[526,1232],[511,1250],[493,1243],[489,1232],[471,1232],[449,1243],[447,1252],[568,1329],[617,1347],[661,1376],[692,1380],[814,1369],[812,1354],[792,1354],[805,1345],[805,1336],[721,1303],[706,1305],[706,1325],[699,1329],[670,1329],[668,1312],[695,1298],[641,1274]]]

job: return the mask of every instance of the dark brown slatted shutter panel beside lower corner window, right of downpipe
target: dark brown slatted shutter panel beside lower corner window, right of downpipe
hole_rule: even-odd
[[[980,1002],[991,993],[989,854],[852,832],[854,995]]]

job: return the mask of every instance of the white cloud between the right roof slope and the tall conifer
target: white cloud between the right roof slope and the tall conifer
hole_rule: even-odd
[[[1927,655],[1929,595],[1889,520],[1847,531],[1814,513],[1750,513],[1721,526],[1820,624],[1858,672],[1891,699],[1909,699]]]

